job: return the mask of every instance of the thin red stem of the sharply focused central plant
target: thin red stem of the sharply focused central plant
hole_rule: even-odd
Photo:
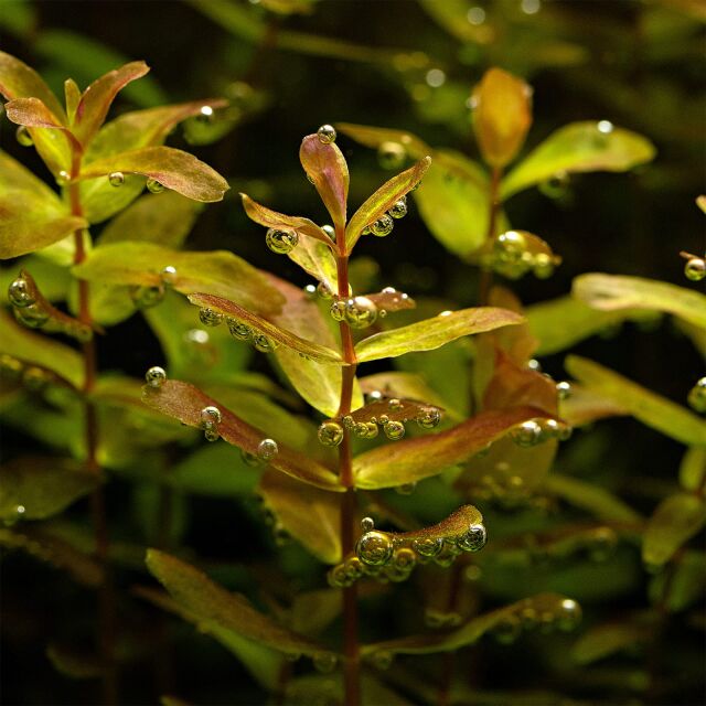
[[[336,269],[339,280],[339,297],[349,297],[349,256],[345,252],[345,234],[336,231]],[[355,350],[351,328],[341,321],[341,347],[346,365],[341,374],[341,402],[339,418],[351,413],[353,398],[353,383],[355,381]],[[343,428],[343,441],[339,447],[339,474],[345,492],[341,498],[341,550],[346,556],[353,550],[355,539],[356,498],[353,488],[353,456],[351,451],[351,432]],[[357,587],[355,584],[343,589],[343,682],[345,705],[359,706],[361,703],[361,663],[357,631]]]

